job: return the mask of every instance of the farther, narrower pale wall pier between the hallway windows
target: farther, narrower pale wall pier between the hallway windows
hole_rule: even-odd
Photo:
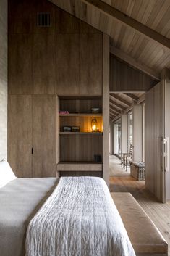
[[[121,120],[122,120],[122,126],[121,126],[121,128],[122,128],[122,131],[121,131],[122,147],[121,147],[121,149],[122,149],[122,153],[127,153],[127,152],[129,152],[127,149],[127,114],[122,115]]]

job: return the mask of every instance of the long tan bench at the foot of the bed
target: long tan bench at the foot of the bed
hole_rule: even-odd
[[[111,193],[137,256],[167,256],[168,244],[130,193]]]

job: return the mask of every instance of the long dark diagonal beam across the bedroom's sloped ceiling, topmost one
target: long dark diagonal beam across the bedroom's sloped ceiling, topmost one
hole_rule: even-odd
[[[126,25],[129,28],[132,28],[140,35],[145,36],[148,39],[153,40],[157,44],[161,44],[161,46],[170,49],[170,40],[165,36],[162,36],[160,33],[155,30],[148,28],[146,25],[138,22],[137,20],[132,19],[125,15],[123,12],[120,12],[118,9],[111,7],[111,5],[106,4],[101,0],[82,0],[85,4],[90,4],[91,6],[98,9],[100,12],[103,12],[105,15],[111,17],[113,20],[117,20],[122,24]]]

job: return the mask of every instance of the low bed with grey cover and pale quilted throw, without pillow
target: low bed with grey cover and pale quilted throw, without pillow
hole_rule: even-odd
[[[135,256],[102,178],[16,178],[0,204],[2,256]]]

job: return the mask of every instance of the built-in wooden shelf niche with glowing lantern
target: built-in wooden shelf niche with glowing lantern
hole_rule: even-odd
[[[99,107],[93,114],[91,108]],[[101,97],[64,97],[59,99],[59,110],[69,114],[59,114],[59,164],[58,171],[102,172],[103,158],[103,115]],[[98,132],[92,132],[91,120],[98,122]],[[80,132],[63,132],[63,126],[80,126]],[[95,155],[101,162],[95,162]],[[77,166],[77,168],[75,168]],[[63,168],[63,169],[62,169]],[[72,169],[73,168],[73,169]],[[62,170],[61,170],[62,169]]]

